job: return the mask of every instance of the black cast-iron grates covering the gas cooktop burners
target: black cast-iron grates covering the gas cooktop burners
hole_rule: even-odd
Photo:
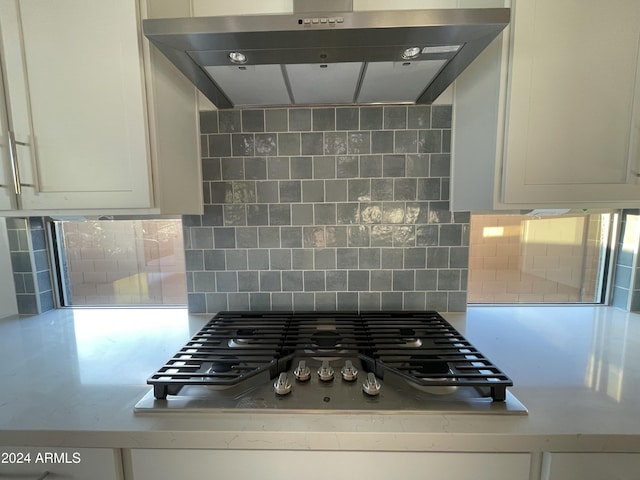
[[[475,387],[503,401],[513,382],[437,312],[221,312],[147,383],[158,399],[186,385],[232,386],[291,370],[294,357],[358,357],[377,377]]]

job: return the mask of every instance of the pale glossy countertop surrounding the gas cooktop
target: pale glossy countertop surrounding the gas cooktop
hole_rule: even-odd
[[[528,416],[134,414],[210,316],[74,309],[0,320],[0,444],[114,448],[640,452],[640,315],[601,306],[443,314]]]

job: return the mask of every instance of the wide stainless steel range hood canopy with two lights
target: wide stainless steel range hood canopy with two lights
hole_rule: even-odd
[[[150,19],[144,34],[218,108],[432,103],[508,8]]]

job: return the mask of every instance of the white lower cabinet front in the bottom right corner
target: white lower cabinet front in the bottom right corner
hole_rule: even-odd
[[[637,480],[638,453],[545,453],[542,480]]]

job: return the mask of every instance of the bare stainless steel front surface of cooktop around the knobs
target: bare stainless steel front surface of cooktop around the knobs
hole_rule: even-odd
[[[326,360],[326,359],[325,359]],[[363,371],[357,358],[335,358],[329,360],[332,368],[341,368],[345,360],[350,360],[355,368]],[[321,368],[320,358],[304,358],[313,370]],[[298,365],[295,359],[292,365]],[[369,373],[373,375],[373,373]],[[510,392],[503,402],[492,401],[491,397],[478,396],[469,388],[450,387],[417,388],[415,384],[392,373],[380,379],[378,395],[367,395],[364,381],[347,382],[341,377],[322,381],[311,375],[308,381],[293,380],[291,392],[278,395],[274,392],[273,380],[268,372],[252,377],[245,382],[228,388],[214,389],[207,386],[185,386],[179,395],[157,400],[150,391],[135,406],[139,414],[158,412],[222,412],[260,411],[282,413],[340,412],[340,413],[472,413],[472,414],[515,414],[526,415],[527,410]]]

